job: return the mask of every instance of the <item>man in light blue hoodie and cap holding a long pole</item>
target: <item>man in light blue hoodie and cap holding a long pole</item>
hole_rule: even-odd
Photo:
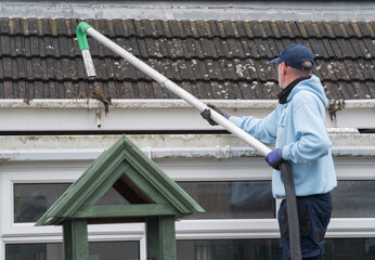
[[[279,165],[284,160],[289,162],[297,196],[302,258],[319,260],[332,213],[329,192],[337,185],[325,122],[328,100],[320,79],[312,75],[313,54],[306,46],[290,46],[269,63],[277,63],[279,84],[283,90],[279,94],[280,104],[267,117],[235,117],[209,106],[260,141],[275,143],[275,150],[266,160],[274,168],[273,196],[283,199],[277,220],[285,260],[290,259],[290,252],[285,190]],[[217,125],[209,109],[202,116],[210,125]]]

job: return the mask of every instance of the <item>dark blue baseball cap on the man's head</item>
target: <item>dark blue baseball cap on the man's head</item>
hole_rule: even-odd
[[[287,66],[309,72],[312,69],[312,66],[303,67],[302,65],[303,62],[307,62],[307,61],[311,62],[312,66],[314,65],[314,55],[312,54],[310,49],[303,44],[294,44],[294,46],[289,46],[284,51],[282,51],[280,56],[270,61],[269,64],[283,62]]]

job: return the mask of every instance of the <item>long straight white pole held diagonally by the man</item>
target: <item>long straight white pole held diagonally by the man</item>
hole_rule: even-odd
[[[199,112],[203,112],[204,109],[208,108],[210,109],[206,104],[202,103],[198,101],[195,96],[190,94],[188,91],[183,90],[180,88],[178,84],[150,67],[147,64],[135,57],[134,55],[130,54],[126,50],[124,50],[121,47],[100,34],[98,30],[93,28],[88,28],[87,34],[90,35],[92,38],[101,42],[103,46],[107,47],[109,50],[118,54],[119,56],[124,57],[127,60],[130,64],[142,70],[144,74],[159,82],[161,86],[166,87],[169,89],[171,92],[173,92],[176,95],[180,96],[182,100],[186,101],[189,104],[197,108]],[[267,156],[271,150],[258,141],[257,139],[253,138],[250,134],[246,133],[244,130],[235,126],[233,122],[230,120],[225,119],[223,116],[218,114],[216,110],[211,110],[211,118],[225,128],[228,131],[231,133],[235,134],[238,136],[241,140],[246,142],[248,145],[260,152],[262,155]]]

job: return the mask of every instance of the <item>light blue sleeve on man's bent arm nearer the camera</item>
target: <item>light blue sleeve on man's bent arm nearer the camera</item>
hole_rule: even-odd
[[[284,159],[302,164],[327,155],[332,143],[325,127],[325,110],[320,101],[303,95],[294,108],[293,121],[297,141],[282,148]]]

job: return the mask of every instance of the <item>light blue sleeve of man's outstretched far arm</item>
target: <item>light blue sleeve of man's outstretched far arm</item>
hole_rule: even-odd
[[[276,141],[279,117],[280,107],[277,106],[276,109],[262,119],[250,116],[231,116],[231,121],[261,142],[274,143]]]

